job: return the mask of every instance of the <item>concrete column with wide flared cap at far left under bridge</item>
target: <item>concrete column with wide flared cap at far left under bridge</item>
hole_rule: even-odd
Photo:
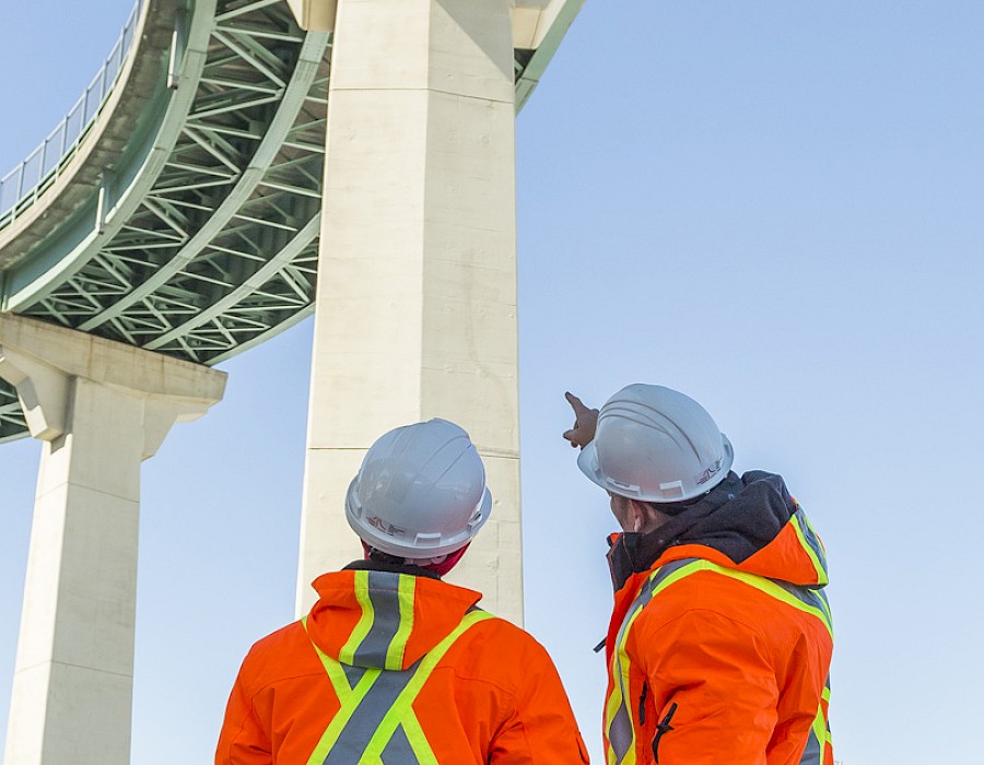
[[[225,375],[0,315],[0,377],[44,442],[4,763],[125,765],[140,462]]]

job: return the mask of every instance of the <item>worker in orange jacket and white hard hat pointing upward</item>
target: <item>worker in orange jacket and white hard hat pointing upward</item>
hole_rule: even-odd
[[[614,609],[609,765],[833,765],[823,546],[780,475],[734,451],[683,393],[567,393],[582,472],[608,492]]]

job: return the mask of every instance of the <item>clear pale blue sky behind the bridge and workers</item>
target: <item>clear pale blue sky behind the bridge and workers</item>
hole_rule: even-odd
[[[0,2],[0,173],[128,10]],[[613,520],[562,395],[635,380],[704,403],[822,536],[837,758],[979,760],[982,40],[971,1],[588,0],[520,116],[527,627],[598,762]],[[134,765],[207,762],[242,656],[292,616],[309,343],[225,364],[144,464]],[[0,447],[0,733],[37,455]]]

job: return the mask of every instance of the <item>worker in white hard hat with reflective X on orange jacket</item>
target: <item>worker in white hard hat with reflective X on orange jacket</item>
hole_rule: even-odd
[[[386,433],[344,511],[365,560],[315,579],[311,612],[253,646],[216,765],[587,763],[547,651],[441,578],[492,511],[468,434]]]

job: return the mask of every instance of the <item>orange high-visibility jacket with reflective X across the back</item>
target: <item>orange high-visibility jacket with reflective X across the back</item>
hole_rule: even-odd
[[[427,574],[359,562],[315,580],[307,616],[244,660],[216,765],[588,762],[546,650]]]

